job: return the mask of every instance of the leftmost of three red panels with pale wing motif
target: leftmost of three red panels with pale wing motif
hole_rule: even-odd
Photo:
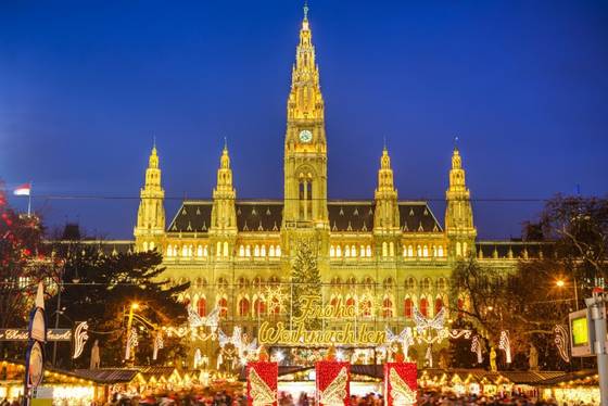
[[[279,365],[269,361],[249,363],[246,366],[248,405],[277,406]]]

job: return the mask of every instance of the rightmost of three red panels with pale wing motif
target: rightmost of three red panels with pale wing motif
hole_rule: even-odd
[[[384,404],[416,405],[417,378],[416,363],[384,364]]]

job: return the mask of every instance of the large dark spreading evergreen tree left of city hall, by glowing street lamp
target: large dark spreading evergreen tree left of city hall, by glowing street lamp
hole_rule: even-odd
[[[65,317],[60,318],[61,327],[68,327],[68,320],[88,321],[89,325],[85,355],[78,359],[80,367],[88,366],[90,346],[96,339],[101,348],[102,367],[122,365],[127,316],[132,303],[139,305],[134,321],[140,337],[136,364],[151,363],[155,328],[187,322],[186,308],[177,302],[177,296],[188,289],[189,283],[173,284],[163,278],[165,268],[160,266],[162,255],[156,251],[106,255],[98,246],[79,242],[58,244],[55,250],[56,255],[65,261],[61,296]],[[56,299],[49,301],[50,308],[55,308]],[[58,348],[58,361],[64,367],[69,359],[68,350]],[[165,335],[157,363],[182,353],[180,340]]]

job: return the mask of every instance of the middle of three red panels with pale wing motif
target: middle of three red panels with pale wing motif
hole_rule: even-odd
[[[320,360],[316,365],[317,401],[320,405],[350,404],[351,364]]]

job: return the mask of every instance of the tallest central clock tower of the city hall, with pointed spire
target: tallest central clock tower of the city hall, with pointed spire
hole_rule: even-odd
[[[319,68],[307,14],[308,8],[304,7],[287,103],[283,246],[292,251],[301,238],[314,238],[322,253],[329,238],[327,139]]]

